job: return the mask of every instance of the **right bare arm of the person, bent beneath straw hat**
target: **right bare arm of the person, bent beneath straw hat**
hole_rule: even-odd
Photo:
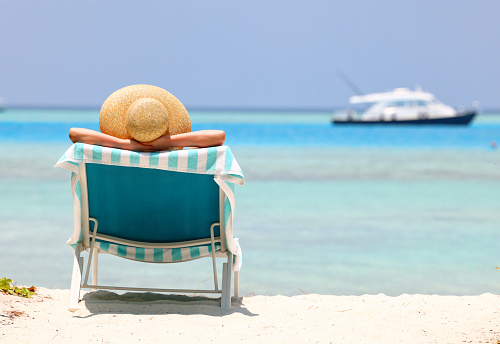
[[[172,136],[161,136],[146,144],[153,146],[156,150],[168,150],[171,147],[205,148],[222,146],[225,140],[226,133],[222,130],[200,130]]]

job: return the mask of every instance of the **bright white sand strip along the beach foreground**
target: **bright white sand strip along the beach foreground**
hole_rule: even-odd
[[[68,290],[0,294],[0,343],[497,343],[500,296],[251,296],[220,300]],[[17,312],[17,313],[16,313]]]

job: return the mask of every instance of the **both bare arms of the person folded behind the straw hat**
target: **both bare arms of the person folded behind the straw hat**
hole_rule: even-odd
[[[172,136],[164,135],[151,142],[138,142],[119,139],[90,129],[71,128],[69,138],[73,143],[82,142],[139,152],[153,152],[169,150],[172,147],[204,148],[222,146],[226,140],[226,134],[222,130],[200,130]]]

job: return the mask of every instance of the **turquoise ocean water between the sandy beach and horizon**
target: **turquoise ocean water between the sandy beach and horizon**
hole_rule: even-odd
[[[328,113],[196,112],[246,177],[241,294],[500,294],[500,114],[469,127],[335,127]],[[0,113],[0,277],[69,288],[69,173],[98,111]],[[195,274],[196,273],[196,274]],[[100,260],[100,282],[209,288],[211,263]],[[220,277],[219,277],[220,278]]]

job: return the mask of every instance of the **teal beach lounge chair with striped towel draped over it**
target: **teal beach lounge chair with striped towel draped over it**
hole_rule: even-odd
[[[80,289],[220,293],[231,307],[231,275],[238,297],[241,249],[233,237],[234,185],[244,177],[227,146],[138,153],[77,143],[56,164],[71,171],[75,225],[69,310]],[[81,253],[90,251],[84,269]],[[214,289],[181,290],[97,283],[98,255],[148,263],[211,258]],[[222,286],[216,258],[224,257]],[[92,283],[89,274],[92,267]],[[83,280],[83,282],[82,282]]]

